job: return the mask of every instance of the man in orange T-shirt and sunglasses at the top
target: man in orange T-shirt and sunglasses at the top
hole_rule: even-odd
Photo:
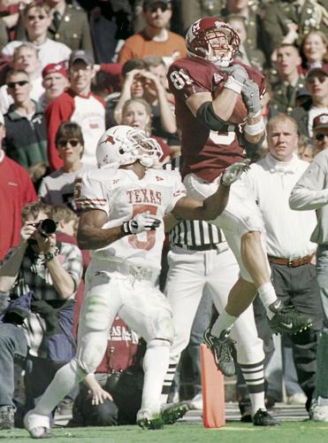
[[[143,15],[146,27],[138,34],[126,39],[118,53],[118,63],[124,65],[130,58],[157,55],[170,65],[176,58],[186,56],[184,39],[167,29],[172,17],[170,0],[144,0]]]

